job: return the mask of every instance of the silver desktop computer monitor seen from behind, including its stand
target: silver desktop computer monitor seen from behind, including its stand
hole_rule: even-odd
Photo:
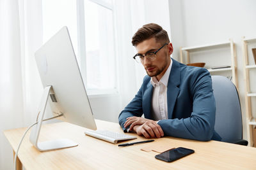
[[[33,127],[29,139],[41,152],[77,146],[69,139],[38,142],[47,103],[51,106],[52,115],[60,115],[58,119],[97,129],[67,27],[38,49],[35,59],[44,93],[38,110],[38,124]]]

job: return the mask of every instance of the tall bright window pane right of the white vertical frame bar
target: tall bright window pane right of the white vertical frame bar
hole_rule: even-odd
[[[98,3],[84,1],[86,84],[88,89],[115,89],[113,11]]]

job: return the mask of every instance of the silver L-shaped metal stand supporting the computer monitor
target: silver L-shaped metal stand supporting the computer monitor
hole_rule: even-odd
[[[77,143],[75,143],[74,141],[71,141],[70,139],[56,139],[52,141],[38,142],[42,122],[44,120],[45,108],[46,108],[50,91],[54,93],[52,86],[45,87],[44,94],[42,96],[41,103],[39,106],[39,111],[38,111],[39,113],[38,123],[31,130],[31,134],[29,137],[30,142],[40,152],[45,152],[48,150],[58,150],[61,148],[70,148],[78,145]]]

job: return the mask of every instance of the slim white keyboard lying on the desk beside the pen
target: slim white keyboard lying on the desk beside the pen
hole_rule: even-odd
[[[94,138],[102,139],[104,141],[108,141],[111,143],[117,143],[118,141],[124,141],[124,140],[137,138],[136,136],[120,134],[120,133],[111,132],[111,131],[102,131],[102,130],[97,130],[97,131],[87,130],[84,132],[84,134],[86,134],[88,136],[92,136]]]

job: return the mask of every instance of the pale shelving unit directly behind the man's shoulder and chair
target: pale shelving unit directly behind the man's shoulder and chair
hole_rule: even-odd
[[[187,61],[187,64],[189,64],[190,63],[189,53],[191,52],[207,51],[207,50],[218,49],[221,47],[228,47],[228,46],[230,47],[230,57],[231,57],[231,63],[232,63],[231,66],[226,68],[220,68],[220,69],[208,69],[208,71],[210,73],[221,72],[221,71],[232,71],[232,81],[238,89],[236,45],[233,43],[232,39],[229,39],[229,41],[214,43],[214,44],[180,47],[180,62],[184,63],[183,52],[186,52],[186,61]]]

